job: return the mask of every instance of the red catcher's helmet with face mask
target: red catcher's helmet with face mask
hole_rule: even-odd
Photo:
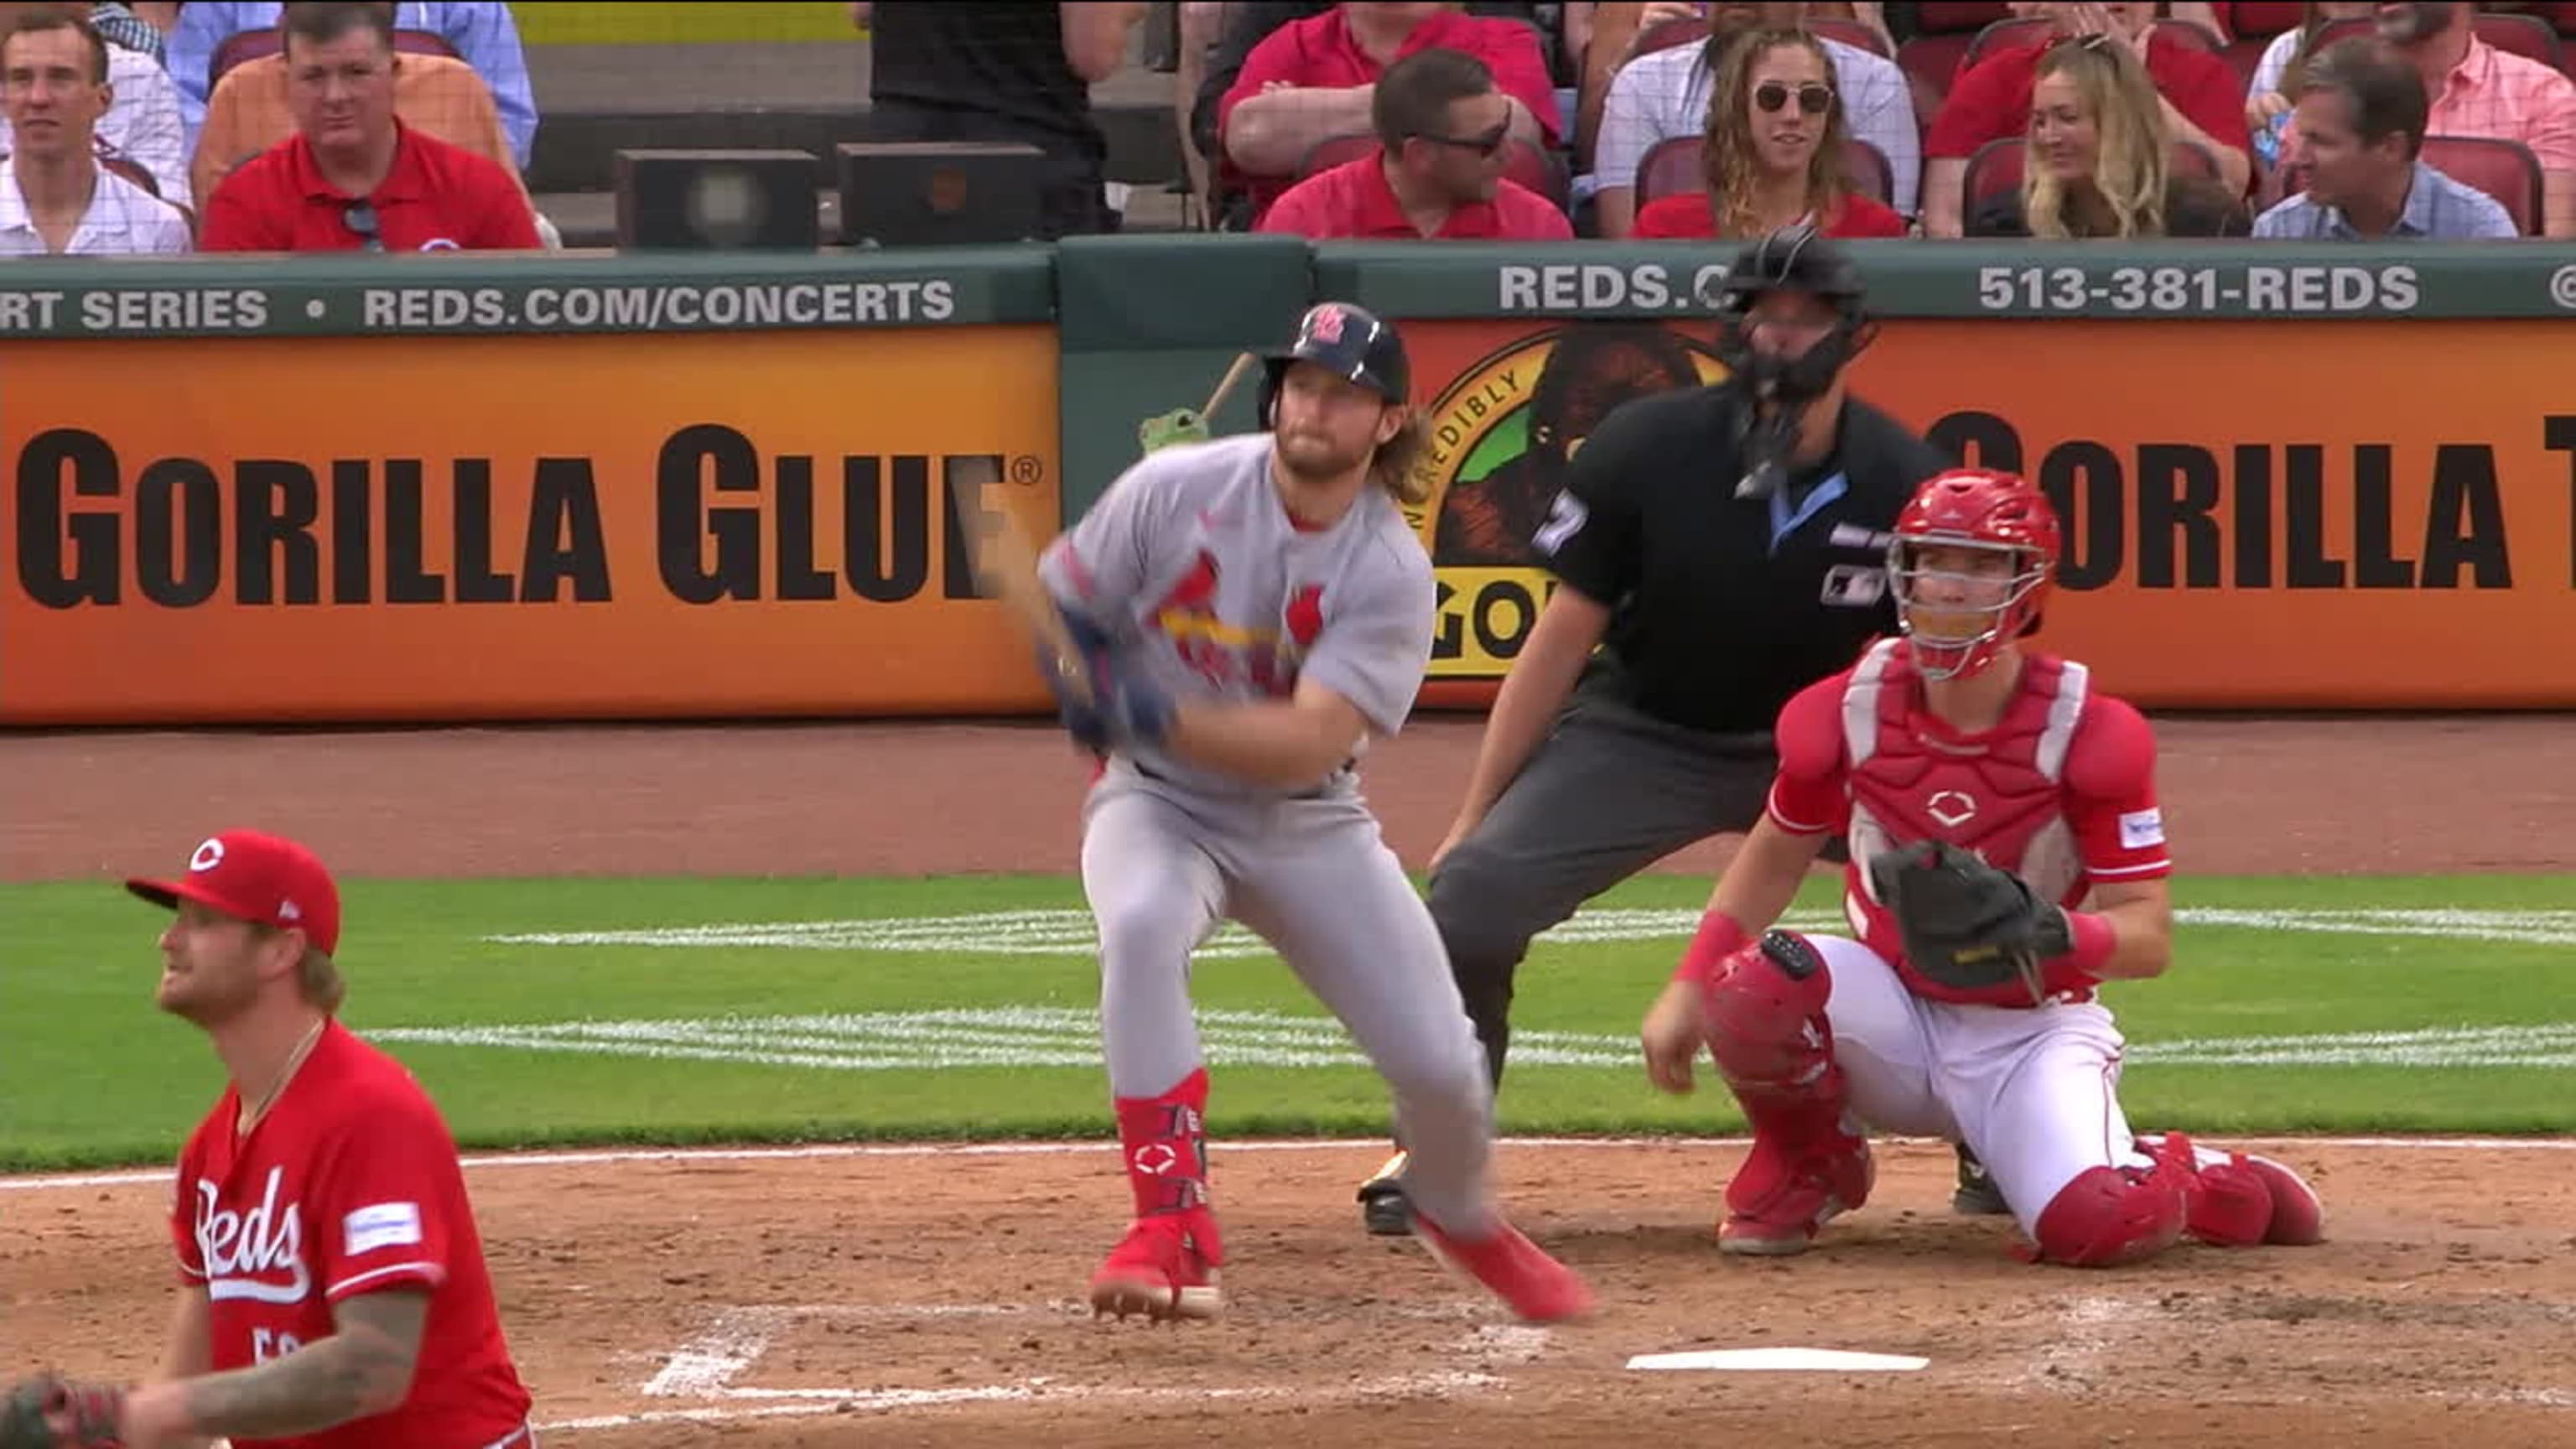
[[[1924,544],[1994,549],[2012,567],[2004,575],[1927,572],[1917,562]],[[1914,645],[1914,665],[1924,678],[1981,673],[2007,642],[2038,624],[2056,567],[2058,511],[2045,492],[2009,472],[1973,467],[1924,480],[1896,516],[1896,539],[1888,544],[1888,580],[1896,588],[1896,616]],[[1965,634],[1924,634],[1914,624],[1917,611],[1984,616],[1986,624]]]

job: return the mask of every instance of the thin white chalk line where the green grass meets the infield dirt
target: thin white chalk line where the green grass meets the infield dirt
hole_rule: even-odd
[[[2380,1152],[2576,1152],[2576,1137],[2226,1137],[2241,1147],[2336,1147]],[[1932,1137],[1875,1137],[1891,1145],[1942,1145]],[[1497,1150],[1636,1150],[1636,1147],[1749,1147],[1752,1137],[1499,1137]],[[1061,1158],[1108,1152],[1097,1142],[814,1142],[804,1147],[618,1147],[585,1152],[500,1152],[464,1158],[469,1171],[492,1168],[618,1168],[636,1163],[819,1163],[840,1158]],[[1370,1137],[1213,1140],[1211,1152],[1386,1152]],[[170,1186],[167,1171],[49,1173],[0,1178],[0,1191]]]

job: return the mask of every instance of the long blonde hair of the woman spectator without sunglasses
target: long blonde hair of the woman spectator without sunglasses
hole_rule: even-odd
[[[2063,75],[2074,80],[2076,98],[2094,121],[2094,175],[2092,191],[2110,217],[2110,232],[2092,227],[2076,214],[2079,199],[2069,196],[2058,178],[2040,165],[2038,111],[2025,124],[2022,155],[2022,219],[2032,237],[2161,237],[2164,188],[2172,180],[2172,131],[2164,124],[2164,106],[2156,101],[2156,83],[2128,44],[2112,36],[2087,36],[2058,41],[2040,57],[2032,80]]]

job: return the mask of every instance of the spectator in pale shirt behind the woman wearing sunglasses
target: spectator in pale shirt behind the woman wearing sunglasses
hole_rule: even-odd
[[[1651,8],[1649,8],[1651,10]],[[1636,168],[1656,142],[1695,137],[1708,126],[1710,83],[1726,46],[1757,28],[1795,31],[1806,5],[1710,5],[1708,41],[1641,54],[1610,77],[1602,101],[1600,139],[1592,147],[1595,227],[1605,237],[1625,237],[1636,224]],[[1646,31],[1636,31],[1646,34]],[[1896,62],[1865,49],[1824,39],[1842,98],[1842,126],[1888,157],[1891,201],[1911,217],[1922,142],[1914,129],[1914,93]]]

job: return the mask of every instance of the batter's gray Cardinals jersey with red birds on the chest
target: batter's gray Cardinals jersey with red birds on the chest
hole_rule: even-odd
[[[1182,701],[1288,699],[1314,681],[1394,735],[1430,665],[1432,559],[1404,513],[1370,487],[1334,526],[1296,526],[1270,433],[1144,456],[1046,549],[1041,575]],[[1133,761],[1208,794],[1265,789],[1162,750]]]

